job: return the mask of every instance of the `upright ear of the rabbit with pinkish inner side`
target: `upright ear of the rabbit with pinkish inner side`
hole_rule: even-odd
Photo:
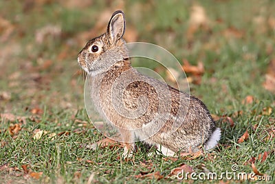
[[[107,34],[111,38],[111,41],[115,42],[123,36],[124,31],[125,31],[124,13],[118,10],[113,13],[111,20],[109,21]]]

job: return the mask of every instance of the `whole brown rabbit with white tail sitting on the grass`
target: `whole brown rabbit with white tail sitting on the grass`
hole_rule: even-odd
[[[124,31],[124,12],[115,11],[107,32],[89,40],[78,54],[78,64],[91,79],[91,103],[120,133],[122,156],[132,156],[138,140],[156,145],[165,156],[195,152],[201,146],[204,150],[214,148],[221,130],[206,105],[195,96],[137,72],[122,39]],[[170,104],[159,100],[159,94],[169,96]],[[161,106],[168,107],[168,114],[164,115],[167,110]],[[179,124],[173,131],[175,122]]]

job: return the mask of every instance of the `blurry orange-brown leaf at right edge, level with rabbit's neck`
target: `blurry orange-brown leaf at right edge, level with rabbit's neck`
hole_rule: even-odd
[[[272,59],[268,65],[263,87],[265,90],[275,93],[275,59]]]

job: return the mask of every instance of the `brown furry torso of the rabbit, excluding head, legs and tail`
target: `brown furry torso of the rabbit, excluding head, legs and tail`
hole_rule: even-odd
[[[131,65],[123,63],[119,70],[113,66],[101,77],[96,76],[93,82],[95,88],[91,97],[100,103],[99,111],[105,121],[135,129],[135,136],[147,143],[159,143],[175,152],[188,151],[209,139],[214,130],[212,117],[199,99],[144,76]],[[159,115],[159,111],[164,112],[159,110],[163,108],[159,105],[163,100],[159,98],[160,93],[170,98],[170,103],[166,104],[170,105],[169,111],[163,116]],[[175,123],[179,126],[174,131]],[[142,129],[146,125],[149,127]]]

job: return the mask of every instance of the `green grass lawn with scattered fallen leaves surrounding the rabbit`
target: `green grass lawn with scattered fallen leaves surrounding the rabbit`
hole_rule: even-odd
[[[157,181],[135,176],[140,171],[159,171],[166,177],[182,163],[197,173],[203,168],[218,174],[230,172],[233,164],[239,165],[239,172],[252,173],[247,161],[264,152],[268,152],[267,159],[263,162],[256,159],[255,165],[259,172],[273,176],[274,182],[275,139],[267,136],[275,129],[275,96],[262,85],[268,63],[275,58],[274,27],[267,23],[268,19],[275,19],[274,1],[197,1],[211,21],[210,30],[198,30],[191,41],[186,35],[192,1],[126,1],[123,4],[94,1],[87,6],[69,6],[62,2],[39,5],[0,1],[0,17],[12,26],[8,39],[1,39],[5,29],[1,30],[0,23],[0,94],[10,94],[10,98],[0,97],[0,113],[27,117],[15,136],[10,135],[8,128],[20,122],[0,121],[0,183],[87,183],[91,174],[94,174],[92,183],[181,183],[177,178]],[[206,71],[200,85],[190,83],[191,93],[206,103],[211,114],[229,116],[234,121],[233,127],[225,120],[218,122],[222,137],[217,149],[197,159],[177,161],[166,161],[162,155],[148,156],[148,150],[141,143],[137,144],[131,161],[120,159],[120,147],[85,149],[85,145],[104,136],[86,123],[89,119],[83,101],[85,79],[83,73],[78,72],[76,57],[87,39],[104,32],[107,22],[102,21],[103,28],[96,27],[85,36],[95,28],[99,17],[104,16],[102,12],[112,12],[118,7],[125,12],[126,32],[127,28],[134,28],[137,41],[160,45],[181,63],[183,59],[192,65],[203,62]],[[264,21],[255,23],[257,17]],[[43,43],[38,43],[36,32],[46,25],[61,28],[61,34],[47,34]],[[228,36],[225,32],[230,29],[241,32],[242,36],[236,37],[234,31]],[[47,61],[52,63],[45,66]],[[254,101],[244,104],[243,100],[250,95]],[[43,113],[32,114],[36,108]],[[256,129],[255,125],[258,125]],[[34,140],[36,130],[56,133],[56,136],[45,134]],[[246,130],[250,135],[248,140],[237,143]],[[145,161],[152,165],[149,167]],[[10,170],[4,169],[6,164]],[[28,169],[43,175],[39,180],[30,178],[23,174],[21,165],[28,165]],[[14,170],[15,167],[19,170]]]

